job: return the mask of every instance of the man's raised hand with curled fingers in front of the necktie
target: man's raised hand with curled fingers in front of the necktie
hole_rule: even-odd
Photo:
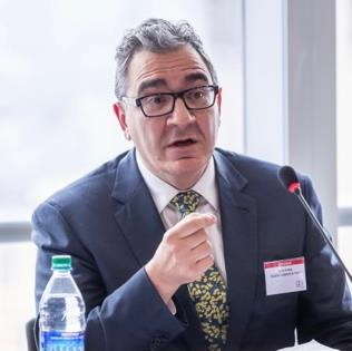
[[[213,214],[192,213],[164,234],[146,272],[165,303],[182,284],[199,279],[213,265],[205,228],[216,221]]]

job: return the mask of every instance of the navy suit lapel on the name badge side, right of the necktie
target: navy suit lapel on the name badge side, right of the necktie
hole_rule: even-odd
[[[244,193],[247,181],[215,152],[224,255],[229,300],[228,350],[241,344],[254,302],[257,271],[255,199]]]

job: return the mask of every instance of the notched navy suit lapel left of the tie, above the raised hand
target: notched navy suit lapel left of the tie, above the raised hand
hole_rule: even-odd
[[[165,228],[137,167],[134,150],[120,162],[113,196],[119,202],[115,214],[117,224],[143,266],[153,257]]]

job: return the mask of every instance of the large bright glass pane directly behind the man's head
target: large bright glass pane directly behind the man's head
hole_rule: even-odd
[[[29,220],[43,198],[131,146],[111,108],[114,56],[124,31],[149,17],[196,28],[223,86],[218,145],[241,152],[239,6],[0,0],[0,221]]]

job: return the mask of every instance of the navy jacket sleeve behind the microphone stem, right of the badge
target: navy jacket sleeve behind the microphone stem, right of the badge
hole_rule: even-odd
[[[304,196],[320,218],[321,206],[311,181],[302,182]],[[306,217],[307,290],[301,294],[297,338],[312,338],[339,350],[352,350],[352,300],[345,274],[330,247]]]

